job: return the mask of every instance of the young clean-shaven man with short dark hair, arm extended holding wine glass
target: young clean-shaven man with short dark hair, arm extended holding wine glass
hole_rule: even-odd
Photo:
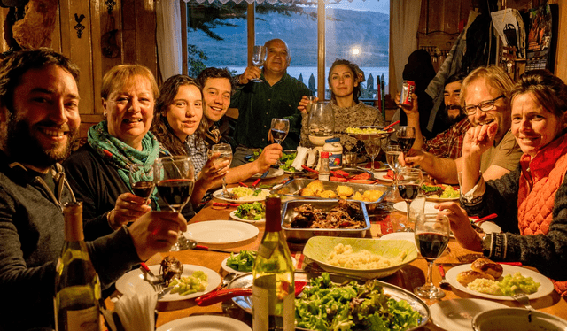
[[[203,87],[203,119],[206,121],[207,130],[205,141],[199,140],[194,143],[195,135],[190,135],[187,146],[190,150],[190,158],[193,162],[205,164],[207,161],[206,150],[210,150],[211,146],[216,143],[223,142],[223,136],[219,123],[224,114],[229,110],[230,96],[232,94],[232,76],[227,69],[209,67],[203,70],[197,76],[198,84]],[[275,165],[277,160],[282,157],[282,146],[278,143],[272,143],[264,148],[260,156],[249,164],[239,165],[229,169],[226,174],[227,183],[235,183],[245,181],[256,173],[264,173],[268,171],[270,165]],[[210,168],[204,167],[202,171],[209,171]],[[200,199],[205,195],[208,189],[221,185],[221,180],[210,182],[204,180],[205,176],[198,177],[197,181],[201,181],[200,185],[195,185],[195,190],[191,195],[191,203],[198,205]]]

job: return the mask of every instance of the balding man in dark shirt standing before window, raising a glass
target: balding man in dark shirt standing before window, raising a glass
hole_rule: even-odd
[[[298,104],[302,96],[311,91],[301,81],[287,73],[291,52],[281,39],[265,43],[268,56],[264,67],[246,68],[237,76],[237,90],[230,107],[238,109],[235,138],[238,144],[233,165],[241,165],[244,157],[252,154],[250,149],[261,149],[268,145],[271,121],[274,118],[289,119],[290,132],[282,142],[283,150],[295,150],[301,135],[301,112]],[[260,78],[262,82],[251,81]]]

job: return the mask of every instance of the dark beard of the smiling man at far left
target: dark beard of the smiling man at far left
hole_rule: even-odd
[[[31,128],[25,120],[18,119],[14,112],[10,114],[10,119],[7,123],[7,135],[5,137],[5,149],[12,160],[25,165],[34,165],[40,168],[50,167],[56,162],[61,162],[66,159],[73,151],[74,138],[78,134],[78,130],[69,133],[67,144],[64,149],[58,148],[53,145],[50,150],[43,150],[40,142],[31,135]],[[44,120],[41,123],[36,123],[36,126],[41,127],[58,127],[51,120]]]

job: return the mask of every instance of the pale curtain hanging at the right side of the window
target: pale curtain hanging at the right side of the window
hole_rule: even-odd
[[[390,95],[395,96],[401,87],[401,73],[411,52],[417,50],[417,28],[421,1],[390,1]]]

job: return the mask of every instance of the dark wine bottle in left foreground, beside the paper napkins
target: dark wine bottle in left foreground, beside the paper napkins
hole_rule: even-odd
[[[55,329],[100,331],[100,281],[82,233],[82,203],[63,207],[65,243],[55,275]]]

